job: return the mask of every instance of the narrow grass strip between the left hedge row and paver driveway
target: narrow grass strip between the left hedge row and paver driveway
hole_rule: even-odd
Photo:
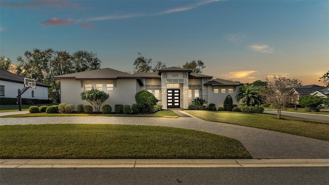
[[[161,110],[154,114],[145,115],[124,115],[124,114],[46,114],[46,113],[33,113],[33,114],[20,114],[20,115],[7,115],[0,118],[22,118],[22,117],[44,117],[44,116],[115,116],[115,117],[160,117],[160,118],[178,118],[178,115],[172,110]]]

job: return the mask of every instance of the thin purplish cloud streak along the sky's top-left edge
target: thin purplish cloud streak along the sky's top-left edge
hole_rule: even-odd
[[[1,1],[1,6],[5,8],[29,8],[36,9],[41,7],[80,7],[78,4],[68,1],[58,0],[33,0],[26,2],[8,2]]]

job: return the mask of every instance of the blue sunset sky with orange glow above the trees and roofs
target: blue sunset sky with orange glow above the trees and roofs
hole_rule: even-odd
[[[141,53],[167,67],[202,60],[204,75],[318,84],[329,70],[329,1],[0,1],[0,52],[85,50],[133,72]]]

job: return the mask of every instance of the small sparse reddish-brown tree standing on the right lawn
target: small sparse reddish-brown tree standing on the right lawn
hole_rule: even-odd
[[[287,103],[294,103],[293,101],[293,87],[296,83],[286,77],[274,76],[273,80],[266,77],[267,90],[264,91],[264,100],[277,107],[277,118],[281,118],[281,108]]]

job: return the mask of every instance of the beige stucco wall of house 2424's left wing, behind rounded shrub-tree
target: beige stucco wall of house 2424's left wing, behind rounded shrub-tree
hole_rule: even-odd
[[[92,84],[96,88],[96,84],[103,85],[103,91],[109,94],[109,98],[102,104],[109,104],[114,112],[116,104],[132,105],[136,103],[135,95],[137,93],[137,81],[134,79],[119,79],[116,80],[116,86],[113,90],[106,90],[106,84],[115,84],[114,80],[61,80],[61,102],[74,104],[75,107],[79,104],[90,105],[87,101],[82,101],[80,94],[84,91],[84,84]],[[82,84],[82,86],[81,86]]]

